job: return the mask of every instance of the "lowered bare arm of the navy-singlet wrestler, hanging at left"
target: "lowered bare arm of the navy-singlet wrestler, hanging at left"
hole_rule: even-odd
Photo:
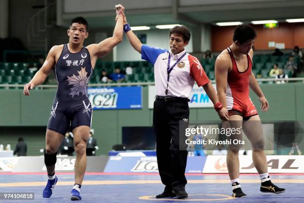
[[[48,75],[52,71],[53,67],[56,64],[56,53],[63,49],[63,45],[53,46],[48,53],[47,58],[45,59],[41,69],[35,74],[32,80],[24,85],[23,94],[29,96],[29,91],[34,87],[41,85],[47,79]]]

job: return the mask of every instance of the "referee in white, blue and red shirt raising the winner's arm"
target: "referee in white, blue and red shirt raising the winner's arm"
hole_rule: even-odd
[[[170,30],[170,50],[143,45],[132,32],[124,17],[124,32],[142,59],[154,66],[156,97],[153,107],[153,127],[156,134],[156,155],[163,193],[156,198],[187,198],[185,169],[187,151],[185,128],[188,127],[191,90],[194,82],[202,86],[214,103],[221,119],[228,120],[217,93],[197,58],[186,53],[190,32],[183,26]]]

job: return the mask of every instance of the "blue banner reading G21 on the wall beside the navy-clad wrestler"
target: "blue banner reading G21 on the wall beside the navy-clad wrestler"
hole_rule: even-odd
[[[93,110],[143,108],[142,87],[88,88]]]

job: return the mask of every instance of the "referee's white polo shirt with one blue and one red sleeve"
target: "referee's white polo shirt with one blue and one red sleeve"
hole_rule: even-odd
[[[168,95],[165,94],[167,88],[167,65],[168,56],[171,55],[170,68],[185,53],[185,50],[174,55],[172,52],[142,45],[142,59],[152,63],[154,66],[154,80],[156,95],[188,98],[192,91],[194,82],[199,87],[210,82],[199,60],[186,53],[170,73]]]

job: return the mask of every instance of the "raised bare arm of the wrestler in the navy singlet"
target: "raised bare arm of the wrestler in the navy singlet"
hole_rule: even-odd
[[[120,4],[119,4],[120,5]],[[119,44],[123,39],[123,20],[124,14],[123,10],[125,9],[122,5],[120,5],[120,10],[117,12],[117,20],[116,25],[113,31],[113,36],[109,37],[98,44],[90,44],[87,46],[87,49],[92,53],[93,56],[100,58],[102,56],[107,55],[112,49]],[[118,9],[119,7],[115,7]],[[118,11],[118,10],[117,10]]]

